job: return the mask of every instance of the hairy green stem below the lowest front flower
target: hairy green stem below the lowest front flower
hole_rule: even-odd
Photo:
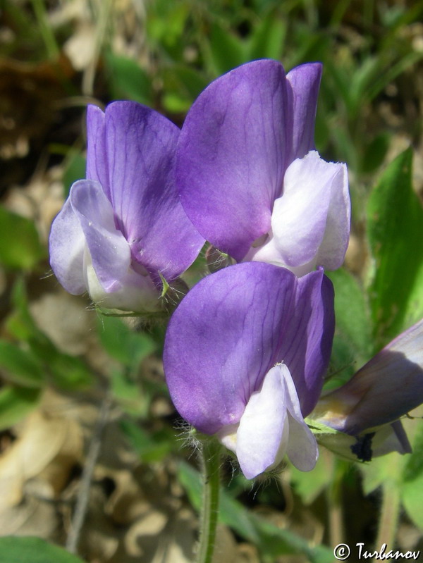
[[[219,518],[220,445],[214,440],[202,443],[203,502],[200,519],[200,548],[197,563],[211,563]]]

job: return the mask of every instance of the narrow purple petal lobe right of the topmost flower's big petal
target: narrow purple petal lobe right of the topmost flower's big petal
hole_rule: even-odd
[[[301,159],[314,149],[314,119],[321,79],[321,63],[296,66],[286,75],[292,91],[293,141],[289,161]]]

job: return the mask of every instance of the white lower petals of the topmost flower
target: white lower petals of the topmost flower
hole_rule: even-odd
[[[264,245],[246,259],[286,266],[304,276],[316,266],[341,266],[350,232],[345,164],[326,162],[309,151],[288,166],[283,194],[275,200]]]

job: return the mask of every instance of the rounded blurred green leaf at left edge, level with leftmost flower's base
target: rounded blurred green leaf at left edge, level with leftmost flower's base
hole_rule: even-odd
[[[0,263],[32,270],[46,254],[34,222],[0,206]]]

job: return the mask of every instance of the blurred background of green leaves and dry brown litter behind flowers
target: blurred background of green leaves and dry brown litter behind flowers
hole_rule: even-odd
[[[411,0],[0,1],[1,536],[65,545],[99,446],[80,557],[179,563],[195,549],[200,478],[166,391],[165,321],[101,316],[49,268],[51,221],[85,176],[87,104],[132,99],[182,125],[235,66],[324,63],[316,146],[348,163],[353,201],[331,275],[333,387],[423,316],[422,16]],[[204,271],[201,256],[187,281]],[[254,483],[228,460],[214,561],[331,563],[341,542],[423,550],[415,415],[411,456],[353,464],[321,447],[312,473]]]

